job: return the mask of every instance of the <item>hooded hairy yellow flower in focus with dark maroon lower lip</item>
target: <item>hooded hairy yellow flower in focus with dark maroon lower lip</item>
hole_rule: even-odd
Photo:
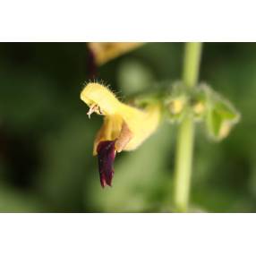
[[[101,185],[111,185],[115,153],[133,150],[156,131],[160,107],[152,104],[139,109],[119,101],[107,87],[90,82],[81,91],[81,100],[90,110],[88,115],[105,115],[104,123],[94,142],[93,154],[98,155]]]

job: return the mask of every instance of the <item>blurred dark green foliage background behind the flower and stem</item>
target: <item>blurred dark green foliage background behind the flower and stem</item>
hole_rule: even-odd
[[[100,187],[94,136],[101,116],[80,100],[89,81],[84,43],[0,44],[1,212],[172,211],[176,126],[162,124],[118,154],[112,188]],[[180,79],[182,43],[149,43],[98,68],[120,98]],[[201,81],[229,98],[242,120],[210,142],[198,125],[191,210],[256,211],[256,44],[206,43]]]

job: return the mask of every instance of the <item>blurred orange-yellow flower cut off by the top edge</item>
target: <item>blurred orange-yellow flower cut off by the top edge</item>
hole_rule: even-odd
[[[107,63],[119,55],[131,51],[136,47],[140,47],[143,43],[88,43],[92,51],[96,64],[101,65]]]

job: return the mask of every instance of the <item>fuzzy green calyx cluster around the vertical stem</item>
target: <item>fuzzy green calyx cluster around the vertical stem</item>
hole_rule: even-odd
[[[182,82],[176,82],[164,104],[170,123],[180,123],[184,116],[191,115],[194,122],[205,124],[209,138],[214,141],[226,138],[240,120],[233,104],[205,83],[188,89]]]

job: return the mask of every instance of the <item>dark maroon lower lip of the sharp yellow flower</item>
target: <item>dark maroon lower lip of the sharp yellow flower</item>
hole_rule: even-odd
[[[101,186],[112,185],[114,176],[115,141],[100,141],[97,147],[98,171]]]

